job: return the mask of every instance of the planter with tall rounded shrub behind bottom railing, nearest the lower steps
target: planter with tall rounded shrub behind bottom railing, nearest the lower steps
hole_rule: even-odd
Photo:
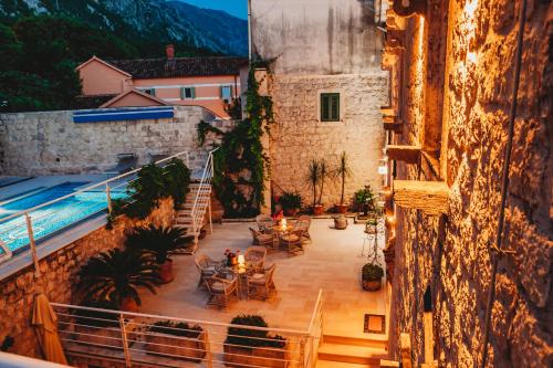
[[[261,316],[239,315],[232,325],[269,327]],[[223,344],[223,360],[228,367],[272,367],[284,368],[289,351],[286,339],[269,335],[267,329],[229,327]]]

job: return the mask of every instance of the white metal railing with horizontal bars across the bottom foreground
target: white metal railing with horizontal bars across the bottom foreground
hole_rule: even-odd
[[[306,330],[51,305],[65,354],[73,357],[115,360],[126,367],[182,367],[191,361],[209,368],[313,368],[322,338],[322,295]]]

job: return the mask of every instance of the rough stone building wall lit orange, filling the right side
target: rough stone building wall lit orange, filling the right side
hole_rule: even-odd
[[[440,367],[481,361],[521,3],[430,0],[424,18],[407,19],[400,60],[406,126],[393,141],[441,154],[438,168],[398,164],[397,178],[450,187],[444,217],[396,211],[390,351],[397,358],[399,333],[409,333],[415,366],[424,361],[428,286]],[[528,2],[503,234],[514,254],[499,263],[489,367],[553,365],[552,14],[550,1]],[[442,87],[436,75],[445,75]],[[440,103],[442,118],[425,119]]]

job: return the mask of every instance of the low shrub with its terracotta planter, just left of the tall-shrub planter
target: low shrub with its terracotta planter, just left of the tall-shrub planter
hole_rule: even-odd
[[[156,322],[145,334],[148,354],[200,362],[206,356],[207,335],[198,325],[170,320]]]

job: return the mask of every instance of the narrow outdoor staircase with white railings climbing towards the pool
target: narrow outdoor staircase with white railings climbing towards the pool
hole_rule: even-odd
[[[185,229],[187,234],[195,238],[194,245],[186,251],[188,254],[194,254],[198,249],[198,239],[206,222],[206,212],[208,212],[207,221],[210,231],[213,231],[211,223],[211,181],[213,179],[213,153],[217,149],[209,153],[201,179],[190,183],[190,191],[186,196],[185,204],[177,211],[175,217],[174,228]]]

